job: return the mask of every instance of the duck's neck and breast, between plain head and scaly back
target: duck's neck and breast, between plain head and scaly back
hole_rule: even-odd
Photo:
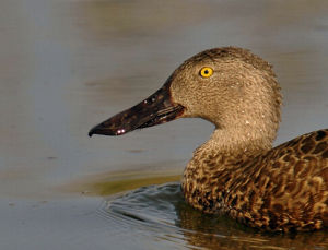
[[[234,182],[232,174],[243,172],[244,162],[270,150],[273,139],[274,135],[265,136],[260,130],[216,129],[210,140],[194,152],[185,169],[181,183],[185,199],[192,206],[207,210],[204,204],[213,204],[213,200],[230,189]],[[211,212],[213,207],[209,207]]]

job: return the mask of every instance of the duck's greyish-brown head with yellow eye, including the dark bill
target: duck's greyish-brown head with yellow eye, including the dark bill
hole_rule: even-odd
[[[218,130],[262,131],[276,136],[280,87],[266,61],[248,50],[202,51],[178,67],[162,88],[94,127],[89,135],[120,135],[180,117],[199,117]]]

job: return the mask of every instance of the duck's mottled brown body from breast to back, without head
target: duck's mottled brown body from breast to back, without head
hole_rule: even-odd
[[[198,148],[184,174],[185,199],[266,230],[328,226],[328,130],[254,156]]]

